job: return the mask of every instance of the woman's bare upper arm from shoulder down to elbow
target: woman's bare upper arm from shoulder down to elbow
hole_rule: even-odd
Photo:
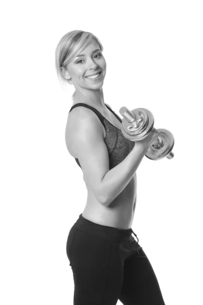
[[[77,109],[77,115],[72,120],[71,148],[80,162],[85,181],[96,199],[102,202],[101,183],[109,171],[109,155],[104,142],[103,127],[92,110],[77,108],[80,109]]]

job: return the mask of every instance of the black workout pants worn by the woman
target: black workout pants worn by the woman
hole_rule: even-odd
[[[66,243],[74,305],[116,305],[118,299],[124,305],[165,305],[154,270],[132,233],[79,216]]]

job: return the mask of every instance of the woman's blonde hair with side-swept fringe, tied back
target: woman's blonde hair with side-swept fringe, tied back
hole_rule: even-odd
[[[72,60],[81,53],[81,51],[88,46],[91,40],[95,40],[99,45],[101,52],[103,46],[99,39],[92,33],[84,32],[81,30],[71,31],[65,34],[58,42],[55,50],[55,68],[60,83],[66,85],[67,83],[73,84],[71,80],[65,79],[61,73],[61,67],[65,68],[66,65],[72,62]],[[74,100],[76,90],[72,96]]]

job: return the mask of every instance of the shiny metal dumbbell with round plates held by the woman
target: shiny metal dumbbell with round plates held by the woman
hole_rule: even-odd
[[[136,108],[130,111],[127,107],[121,107],[119,112],[123,116],[121,132],[126,139],[139,141],[151,132],[154,116],[148,109]],[[157,129],[157,131],[159,135],[145,156],[151,160],[160,160],[164,157],[172,159],[174,157],[173,134],[166,129]]]

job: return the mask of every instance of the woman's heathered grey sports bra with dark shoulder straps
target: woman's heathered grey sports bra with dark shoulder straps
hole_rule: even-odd
[[[123,136],[121,130],[112,125],[110,121],[108,121],[103,115],[101,115],[94,107],[84,103],[77,103],[71,107],[71,110],[78,106],[84,106],[91,109],[98,116],[101,123],[103,124],[106,130],[106,137],[104,138],[104,141],[109,154],[109,169],[114,168],[127,157],[127,155],[134,147],[135,142],[126,139]],[[122,122],[122,119],[111,108],[109,108],[108,105],[106,106],[120,120],[120,122]],[[71,112],[71,110],[69,112]],[[77,158],[75,158],[75,160],[80,166],[79,160]]]

